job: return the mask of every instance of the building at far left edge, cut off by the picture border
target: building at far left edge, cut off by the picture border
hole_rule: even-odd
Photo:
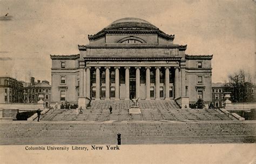
[[[22,103],[23,85],[11,77],[0,77],[0,103]]]

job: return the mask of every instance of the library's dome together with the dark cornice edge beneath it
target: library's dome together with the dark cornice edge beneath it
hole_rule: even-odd
[[[88,35],[89,40],[102,38],[106,33],[156,33],[159,37],[173,40],[174,35],[167,35],[153,24],[139,18],[122,18],[112,22],[95,35]]]

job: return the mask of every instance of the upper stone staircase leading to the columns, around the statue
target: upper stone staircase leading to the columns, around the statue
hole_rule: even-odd
[[[109,107],[112,106],[112,114]],[[51,110],[42,120],[52,121],[159,121],[159,120],[232,120],[217,110],[184,110],[174,100],[140,100],[142,114],[129,114],[130,100],[93,100],[91,109],[78,114],[77,110]]]

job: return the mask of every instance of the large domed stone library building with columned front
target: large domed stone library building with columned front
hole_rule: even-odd
[[[87,99],[186,99],[212,101],[212,55],[186,54],[187,45],[139,18],[114,21],[79,54],[51,55],[55,103]]]

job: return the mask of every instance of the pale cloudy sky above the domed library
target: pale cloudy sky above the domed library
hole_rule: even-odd
[[[187,44],[186,54],[213,54],[212,82],[240,69],[255,71],[253,0],[3,1],[0,0],[0,76],[51,81],[50,54],[78,54],[114,20],[145,19]]]

